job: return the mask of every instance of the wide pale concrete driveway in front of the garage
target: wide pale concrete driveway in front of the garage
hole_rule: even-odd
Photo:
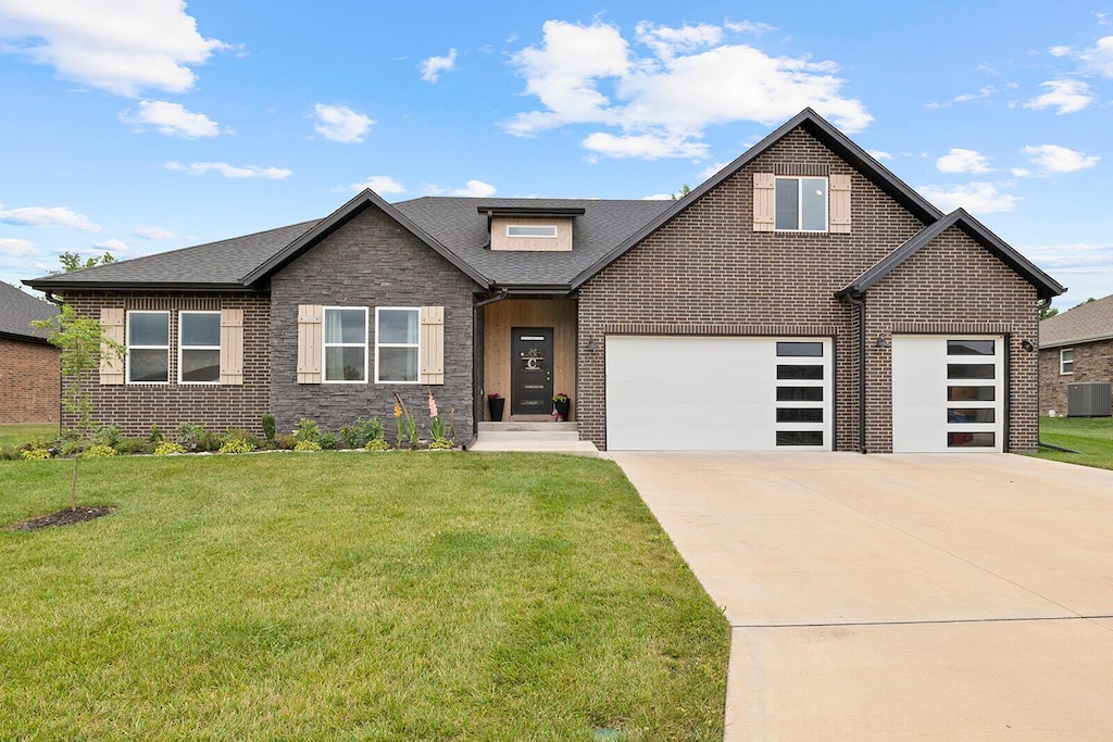
[[[728,741],[1113,739],[1113,472],[611,457],[730,621]]]

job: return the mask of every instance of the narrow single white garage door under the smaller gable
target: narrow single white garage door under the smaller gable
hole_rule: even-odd
[[[1002,451],[1005,338],[893,338],[893,451]]]

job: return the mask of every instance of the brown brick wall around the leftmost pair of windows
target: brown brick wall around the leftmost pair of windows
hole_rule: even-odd
[[[105,386],[93,372],[83,385],[92,393],[93,418],[100,424],[120,425],[125,435],[141,437],[150,433],[151,425],[158,425],[169,435],[183,423],[205,425],[217,433],[236,427],[263,434],[262,417],[270,399],[270,313],[265,295],[132,296],[67,291],[66,300],[79,315],[95,319],[100,318],[101,307],[170,311],[171,383]],[[223,308],[244,310],[243,385],[178,384],[178,311]]]

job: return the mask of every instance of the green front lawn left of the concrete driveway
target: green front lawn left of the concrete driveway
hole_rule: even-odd
[[[0,525],[70,463],[0,462]],[[612,463],[81,463],[0,530],[0,739],[721,740],[729,629]]]

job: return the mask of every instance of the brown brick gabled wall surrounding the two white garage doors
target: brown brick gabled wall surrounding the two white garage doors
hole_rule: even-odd
[[[815,164],[827,166],[833,175],[850,175],[851,231],[754,231],[754,174],[772,172],[778,164]],[[790,132],[581,288],[581,435],[605,446],[607,334],[814,335],[835,340],[835,447],[857,451],[857,309],[834,295],[923,226],[814,137],[801,129]],[[940,245],[961,241],[947,237]],[[988,253],[966,246],[930,246],[924,253],[870,290],[866,299],[870,342],[898,320],[956,318],[979,327],[1005,326],[1017,343],[1035,339],[1034,289]],[[948,263],[955,258],[971,261],[962,276],[956,264]],[[884,309],[877,311],[875,304]],[[598,350],[587,349],[592,340]],[[888,360],[875,362],[876,352],[867,353],[867,435],[871,451],[888,451]],[[1035,359],[1018,354],[1013,358],[1017,388],[1032,397],[1012,410],[1015,444],[1024,449],[1034,441],[1034,423],[1025,415],[1034,419]]]

